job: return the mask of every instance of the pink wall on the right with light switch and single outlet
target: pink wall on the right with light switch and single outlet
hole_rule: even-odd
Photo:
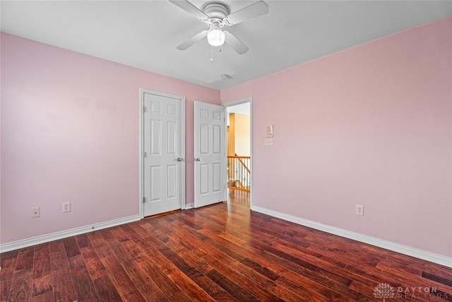
[[[254,206],[452,257],[452,17],[221,91],[248,96]]]

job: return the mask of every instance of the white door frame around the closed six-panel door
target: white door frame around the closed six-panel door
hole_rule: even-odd
[[[182,116],[181,116],[181,123],[182,123],[182,133],[181,133],[181,149],[182,149],[182,165],[181,165],[181,178],[180,178],[180,185],[181,185],[181,198],[182,198],[182,204],[181,207],[182,209],[185,209],[185,97],[184,96],[180,96],[180,95],[173,95],[173,94],[169,94],[169,93],[162,93],[160,91],[153,91],[150,89],[146,89],[146,88],[140,88],[140,106],[139,106],[139,110],[140,110],[140,124],[139,124],[139,129],[140,129],[140,151],[139,151],[139,159],[140,159],[140,198],[138,200],[138,204],[139,204],[139,211],[140,211],[140,218],[143,219],[144,218],[144,161],[143,161],[143,156],[144,156],[144,94],[145,93],[150,93],[150,94],[154,94],[154,95],[160,95],[166,98],[176,98],[178,100],[181,100],[181,112],[182,112]]]

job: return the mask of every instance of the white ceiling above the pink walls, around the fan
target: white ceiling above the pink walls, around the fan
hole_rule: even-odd
[[[202,8],[207,1],[191,3]],[[254,3],[222,2],[232,12]],[[177,50],[177,45],[207,28],[167,0],[3,0],[1,31],[223,89],[452,15],[452,1],[266,3],[267,15],[227,28],[249,47],[242,55],[229,45],[222,52],[211,50],[206,39]],[[221,74],[232,79],[222,79]]]

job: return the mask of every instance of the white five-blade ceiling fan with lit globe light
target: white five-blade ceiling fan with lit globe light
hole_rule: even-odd
[[[212,46],[220,46],[226,42],[238,54],[244,54],[248,51],[248,47],[232,33],[222,30],[222,27],[224,25],[235,25],[268,13],[268,5],[264,1],[257,1],[234,13],[230,13],[229,6],[220,1],[204,4],[202,11],[187,0],[169,0],[169,2],[191,13],[209,26],[209,30],[203,30],[179,45],[177,47],[178,50],[186,50],[191,45],[207,37],[208,43]]]

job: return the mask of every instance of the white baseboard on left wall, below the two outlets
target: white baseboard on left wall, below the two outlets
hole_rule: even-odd
[[[47,243],[53,240],[67,238],[71,236],[80,235],[83,233],[89,233],[92,231],[101,230],[102,228],[110,228],[112,226],[119,226],[120,224],[129,223],[140,220],[140,215],[128,216],[120,219],[113,219],[101,223],[94,223],[89,226],[81,226],[79,228],[72,228],[66,231],[60,231],[56,233],[50,233],[42,236],[36,236],[23,240],[13,241],[11,243],[4,243],[0,245],[0,252],[9,252],[10,250],[18,250],[19,248],[27,248],[31,245],[37,245],[40,243]]]

